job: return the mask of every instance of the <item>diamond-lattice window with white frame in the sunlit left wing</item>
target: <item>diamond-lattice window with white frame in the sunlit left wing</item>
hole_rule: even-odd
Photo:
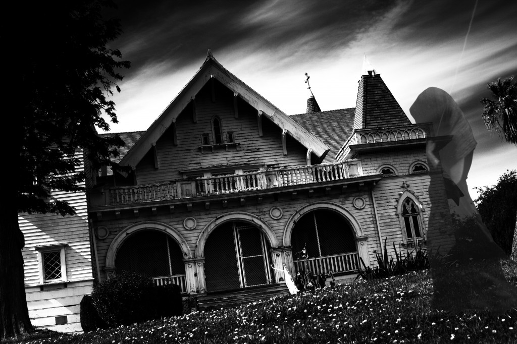
[[[66,282],[65,246],[36,247],[40,271],[40,283]]]

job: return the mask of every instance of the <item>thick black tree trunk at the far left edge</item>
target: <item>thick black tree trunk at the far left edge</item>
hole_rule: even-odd
[[[25,298],[21,251],[24,239],[18,226],[18,209],[16,202],[12,201],[13,198],[5,194],[2,198],[3,201],[0,202],[0,333],[3,338],[7,338],[32,332],[34,328],[29,319]]]

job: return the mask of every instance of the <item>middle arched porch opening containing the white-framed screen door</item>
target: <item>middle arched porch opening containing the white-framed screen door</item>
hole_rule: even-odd
[[[247,222],[224,222],[212,230],[204,245],[208,292],[271,283],[270,243]]]

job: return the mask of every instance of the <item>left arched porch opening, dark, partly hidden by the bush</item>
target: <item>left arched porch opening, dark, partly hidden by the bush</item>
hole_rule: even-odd
[[[139,230],[117,249],[116,272],[130,271],[153,278],[156,285],[177,284],[186,292],[184,254],[163,231]]]

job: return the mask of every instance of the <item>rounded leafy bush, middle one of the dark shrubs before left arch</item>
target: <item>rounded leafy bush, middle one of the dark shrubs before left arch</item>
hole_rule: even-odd
[[[132,324],[154,317],[153,287],[150,277],[123,272],[94,286],[92,298],[109,326]]]

